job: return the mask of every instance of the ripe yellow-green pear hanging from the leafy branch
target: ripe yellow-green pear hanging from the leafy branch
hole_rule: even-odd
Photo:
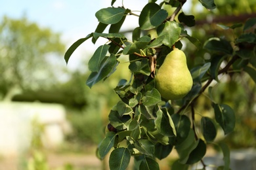
[[[175,48],[163,61],[156,73],[156,89],[161,97],[177,100],[184,97],[192,88],[193,79],[186,65],[186,56]]]

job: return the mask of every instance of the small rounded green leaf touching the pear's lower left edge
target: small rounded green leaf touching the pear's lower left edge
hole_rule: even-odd
[[[161,101],[161,95],[156,88],[153,88],[151,91],[146,92],[146,95],[142,97],[142,101],[145,106],[156,105]]]

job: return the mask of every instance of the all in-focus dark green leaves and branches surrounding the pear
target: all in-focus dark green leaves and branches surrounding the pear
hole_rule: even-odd
[[[112,1],[113,6],[116,1]],[[131,72],[130,80],[120,80],[114,91],[120,101],[114,105],[108,115],[110,122],[106,137],[98,147],[100,159],[111,149],[110,169],[125,169],[131,156],[135,156],[135,169],[160,169],[158,160],[169,156],[173,148],[179,154],[173,169],[188,169],[188,165],[202,161],[207,144],[216,142],[217,129],[221,127],[224,134],[232,133],[236,123],[236,112],[230,105],[215,100],[211,82],[221,82],[220,75],[232,77],[234,69],[247,73],[255,81],[255,32],[248,30],[255,25],[255,19],[245,22],[244,31],[232,42],[225,37],[211,37],[201,42],[197,37],[188,35],[189,27],[196,26],[195,17],[181,12],[175,18],[167,18],[167,11],[161,9],[156,1],[148,1],[139,15],[139,27],[132,31],[132,40],[119,33],[127,15],[136,15],[125,7],[109,7],[96,12],[99,24],[93,37],[104,37],[106,44],[99,46],[89,61],[91,75],[87,79],[90,88],[100,80],[105,80],[116,71],[119,58],[128,58]],[[181,10],[185,1],[163,1]],[[215,9],[214,1],[200,0],[206,9]],[[177,16],[178,12],[173,15]],[[110,24],[108,33],[103,33]],[[243,24],[242,24],[243,25]],[[238,29],[241,24],[221,25],[222,29]],[[150,29],[154,29],[154,37]],[[143,30],[143,31],[142,31]],[[144,34],[144,31],[150,30]],[[248,32],[247,32],[248,31]],[[75,42],[65,59],[68,61],[72,52],[81,42]],[[165,56],[174,47],[181,48],[186,39],[186,46],[194,44],[201,56],[188,56],[190,73],[194,84],[190,92],[177,101],[165,101],[155,88],[154,76],[163,63]],[[203,46],[202,46],[203,44]],[[208,58],[203,58],[207,54]],[[120,56],[121,55],[121,56]],[[198,60],[197,60],[198,59]],[[200,61],[196,63],[196,61]],[[224,66],[223,66],[224,65]],[[208,88],[208,93],[205,90]],[[207,95],[208,110],[214,114],[198,114],[196,109],[202,107],[200,99]],[[206,97],[205,97],[206,98]],[[198,116],[199,115],[199,116]],[[125,141],[125,143],[123,143]],[[228,147],[220,144],[224,155],[224,168],[229,167]],[[118,161],[117,161],[118,160]],[[203,168],[205,168],[204,165]]]

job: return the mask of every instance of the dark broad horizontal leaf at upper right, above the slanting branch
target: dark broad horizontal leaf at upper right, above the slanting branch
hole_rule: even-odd
[[[206,50],[209,50],[210,52],[220,52],[224,54],[232,54],[233,48],[230,44],[230,42],[219,39],[219,38],[211,38],[208,41],[205,42],[203,45],[203,48]]]

